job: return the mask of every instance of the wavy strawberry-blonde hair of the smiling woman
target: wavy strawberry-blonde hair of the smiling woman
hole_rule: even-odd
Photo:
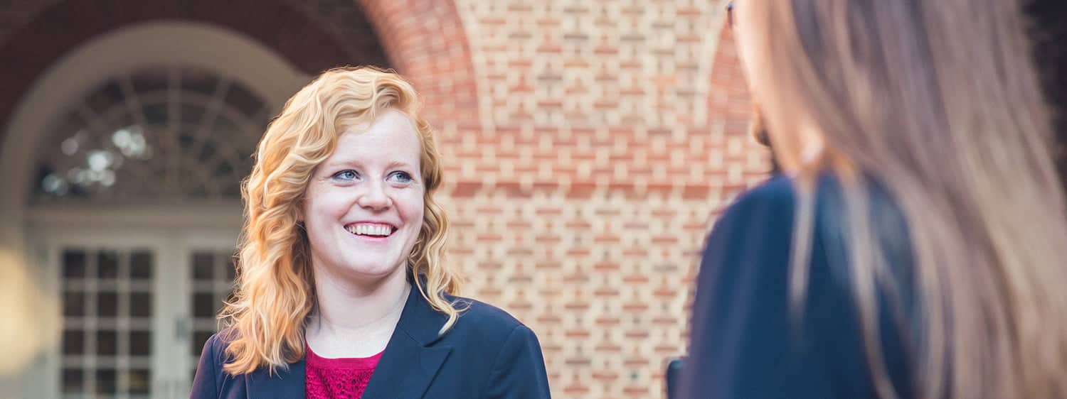
[[[299,227],[300,203],[316,166],[325,161],[347,129],[369,123],[387,109],[408,115],[421,144],[425,216],[408,260],[414,284],[448,321],[459,310],[459,279],[443,262],[448,218],[434,201],[442,166],[429,123],[418,114],[414,88],[400,76],[370,67],[337,68],[320,74],[285,104],[259,142],[252,174],[242,186],[244,228],[238,246],[234,299],[219,318],[230,329],[224,339],[232,361],[225,370],[286,368],[304,354],[304,327],[315,305],[310,248]],[[424,281],[425,280],[425,281]]]

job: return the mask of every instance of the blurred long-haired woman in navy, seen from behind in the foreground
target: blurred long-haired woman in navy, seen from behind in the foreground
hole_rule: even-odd
[[[1022,3],[732,5],[786,177],[708,237],[684,397],[1067,397],[1067,215]]]

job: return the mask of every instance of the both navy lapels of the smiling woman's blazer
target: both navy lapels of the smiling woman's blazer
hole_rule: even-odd
[[[451,352],[451,347],[434,345],[441,339],[437,331],[448,316],[433,310],[412,285],[400,321],[363,393],[364,399],[421,398]],[[303,398],[304,366],[301,359],[289,364],[288,370],[275,370],[273,376],[262,368],[253,371],[245,379],[249,398]]]

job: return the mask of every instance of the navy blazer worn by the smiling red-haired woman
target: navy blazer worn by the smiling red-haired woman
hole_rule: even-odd
[[[411,290],[363,399],[550,397],[534,332],[499,309],[460,300],[469,309],[437,336],[447,316],[434,311],[418,289]],[[232,377],[222,369],[224,335],[217,333],[204,345],[191,399],[304,398],[304,360],[273,377],[266,368]]]

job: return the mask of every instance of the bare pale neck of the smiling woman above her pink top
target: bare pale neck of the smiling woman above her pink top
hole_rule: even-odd
[[[318,270],[317,270],[318,271]],[[403,268],[372,284],[316,272],[316,310],[305,337],[324,358],[365,358],[385,348],[411,290]]]

